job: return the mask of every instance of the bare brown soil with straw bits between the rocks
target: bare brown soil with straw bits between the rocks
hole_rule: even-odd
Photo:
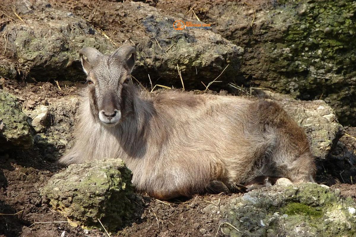
[[[10,1],[7,1],[10,4]],[[67,9],[73,14],[83,16],[95,27],[105,30],[113,40],[121,42],[117,28],[128,33],[132,25],[123,25],[115,20],[115,9],[111,1],[50,1],[56,8]],[[200,11],[195,12],[204,18],[204,11],[209,10],[211,1],[200,1]],[[248,1],[246,1],[248,2]],[[193,6],[190,1],[150,1],[151,5],[163,11],[185,14]],[[175,4],[175,7],[173,7]],[[179,7],[177,7],[177,4]],[[11,12],[9,13],[11,14]],[[189,14],[192,14],[190,12]],[[28,16],[30,17],[30,16]],[[37,105],[46,104],[58,98],[70,98],[83,86],[83,82],[59,82],[59,87],[51,82],[26,82],[1,79],[0,88],[13,93],[23,104],[23,108],[31,110]],[[70,126],[75,124],[73,118],[65,114],[62,118]],[[56,129],[55,126],[50,129]],[[59,128],[57,133],[62,133]],[[354,150],[356,148],[356,128],[346,128],[345,135],[340,139],[330,161],[318,164],[318,183],[339,188],[344,196],[356,200]],[[72,135],[64,134],[64,139],[70,141]],[[104,230],[85,231],[80,227],[72,227],[61,215],[42,202],[39,188],[61,168],[54,161],[65,150],[65,146],[41,146],[40,142],[26,150],[11,150],[0,155],[0,236],[107,236]],[[356,178],[355,178],[356,179]],[[209,205],[223,205],[229,201],[228,195],[195,196],[186,200],[161,202],[143,195],[145,208],[142,216],[131,226],[117,233],[116,236],[224,236],[217,232],[220,213],[210,212]],[[240,195],[240,194],[233,194]],[[6,214],[6,215],[3,215]],[[42,222],[42,223],[36,223]]]

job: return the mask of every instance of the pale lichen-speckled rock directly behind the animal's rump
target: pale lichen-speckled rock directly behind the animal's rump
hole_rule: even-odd
[[[277,101],[287,113],[305,130],[313,155],[325,160],[344,129],[334,110],[323,100],[299,101],[287,95],[264,91],[267,98]]]

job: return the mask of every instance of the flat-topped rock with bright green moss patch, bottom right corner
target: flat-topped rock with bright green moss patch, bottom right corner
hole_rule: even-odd
[[[231,237],[351,237],[356,234],[355,207],[351,198],[340,197],[338,189],[314,183],[275,185],[220,206],[225,217],[220,227]]]

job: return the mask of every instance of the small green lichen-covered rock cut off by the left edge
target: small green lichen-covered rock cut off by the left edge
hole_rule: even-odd
[[[0,150],[33,144],[30,125],[15,96],[0,91]],[[10,145],[10,146],[9,146]]]

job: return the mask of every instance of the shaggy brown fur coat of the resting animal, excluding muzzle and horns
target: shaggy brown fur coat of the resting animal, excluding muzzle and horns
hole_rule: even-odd
[[[158,199],[200,193],[214,181],[234,190],[259,176],[314,182],[307,136],[277,103],[178,91],[140,94],[132,82],[122,82],[131,72],[122,59],[100,60],[88,75],[95,85],[83,91],[75,145],[60,163],[121,158],[133,184]],[[105,90],[112,80],[117,86]],[[112,126],[98,118],[104,93],[114,93],[122,114]]]

